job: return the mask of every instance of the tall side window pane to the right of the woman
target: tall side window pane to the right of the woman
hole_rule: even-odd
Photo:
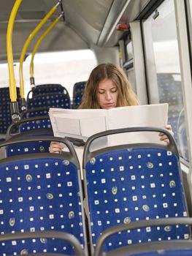
[[[188,159],[185,127],[180,127],[185,116],[174,0],[164,1],[158,12],[158,17],[154,12],[143,22],[149,100],[150,103],[169,103],[168,122],[172,124],[181,156]]]

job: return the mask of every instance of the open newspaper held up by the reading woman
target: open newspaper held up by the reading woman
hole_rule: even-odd
[[[50,108],[50,121],[55,136],[77,138],[88,137],[108,129],[126,127],[164,127],[167,124],[168,104],[139,105],[104,109]],[[158,142],[157,133],[137,132],[129,135],[108,136],[108,146],[117,143]],[[106,144],[106,141],[104,142]]]

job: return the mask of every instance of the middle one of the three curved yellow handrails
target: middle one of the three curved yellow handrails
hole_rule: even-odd
[[[29,35],[28,39],[25,42],[25,45],[23,46],[23,50],[20,54],[20,67],[19,67],[19,77],[20,77],[20,97],[24,98],[24,80],[23,80],[23,61],[26,55],[26,50],[28,48],[29,43],[31,40],[34,38],[35,34],[39,31],[39,29],[42,28],[42,26],[45,24],[48,18],[55,12],[57,9],[58,5],[60,4],[60,1],[55,4],[55,6],[50,10],[50,12],[45,15],[45,17],[42,19],[42,21],[37,25],[37,27],[32,31],[32,33]]]

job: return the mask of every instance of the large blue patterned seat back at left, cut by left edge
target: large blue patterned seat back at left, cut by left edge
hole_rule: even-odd
[[[0,160],[0,219],[1,235],[16,236],[35,231],[65,232],[77,238],[85,248],[85,225],[82,211],[82,184],[80,164],[72,143],[66,139],[54,138],[64,143],[68,151],[62,154],[26,154]],[[39,138],[20,138],[20,142]],[[52,137],[42,140],[53,140]],[[18,143],[7,140],[0,148]],[[74,255],[72,246],[58,239],[22,238],[15,241],[1,241],[0,255],[23,255],[31,253],[60,253]],[[38,255],[39,255],[38,254]]]

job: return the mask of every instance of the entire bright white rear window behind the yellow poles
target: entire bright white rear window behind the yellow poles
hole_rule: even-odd
[[[23,64],[23,76],[25,84],[25,97],[30,86],[30,61],[28,56]],[[88,80],[91,70],[96,67],[96,56],[92,50],[70,50],[55,53],[37,53],[34,56],[35,84],[60,83],[68,91],[72,98],[74,83]],[[15,79],[19,86],[19,63],[15,63]],[[0,65],[0,86],[8,86],[7,64]]]

